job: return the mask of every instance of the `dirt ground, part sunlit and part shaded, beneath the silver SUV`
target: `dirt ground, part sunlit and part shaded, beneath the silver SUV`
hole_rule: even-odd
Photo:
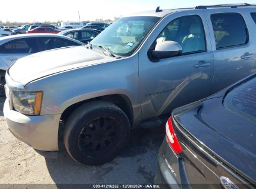
[[[59,159],[45,159],[8,131],[0,99],[0,188],[59,188],[61,184],[153,183],[156,158],[164,127],[135,129],[123,152],[101,166],[80,165],[70,159],[64,147]],[[15,185],[22,184],[22,185]],[[50,184],[50,185],[49,185]],[[34,187],[32,187],[34,186]]]

